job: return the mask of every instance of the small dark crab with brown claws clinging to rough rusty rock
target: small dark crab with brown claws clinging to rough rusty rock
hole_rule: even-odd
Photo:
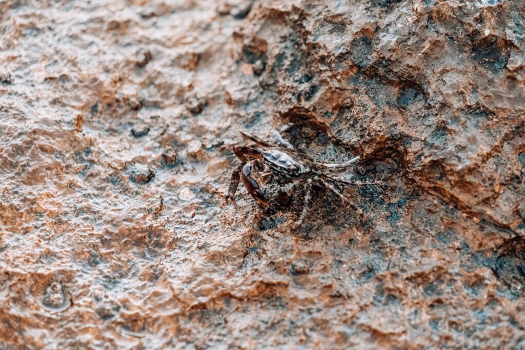
[[[234,169],[229,185],[228,195],[234,204],[236,204],[235,193],[237,192],[239,181],[242,181],[248,193],[258,204],[263,207],[269,206],[268,200],[253,177],[255,172],[262,172],[265,174],[271,173],[285,183],[279,188],[276,198],[277,203],[282,207],[288,205],[291,196],[301,184],[304,186],[304,206],[296,226],[300,226],[307,216],[312,186],[330,190],[344,203],[350,205],[359,215],[362,215],[361,210],[356,208],[334,186],[335,184],[343,186],[354,184],[354,182],[338,175],[337,172],[359,161],[360,156],[353,157],[344,163],[318,162],[309,155],[293,149],[290,142],[285,140],[275,129],[270,132],[270,136],[278,143],[277,146],[272,146],[268,142],[259,139],[259,137],[239,128],[236,129],[246,139],[255,142],[260,147],[254,148],[243,145],[235,145],[233,147],[233,153],[241,162]]]

